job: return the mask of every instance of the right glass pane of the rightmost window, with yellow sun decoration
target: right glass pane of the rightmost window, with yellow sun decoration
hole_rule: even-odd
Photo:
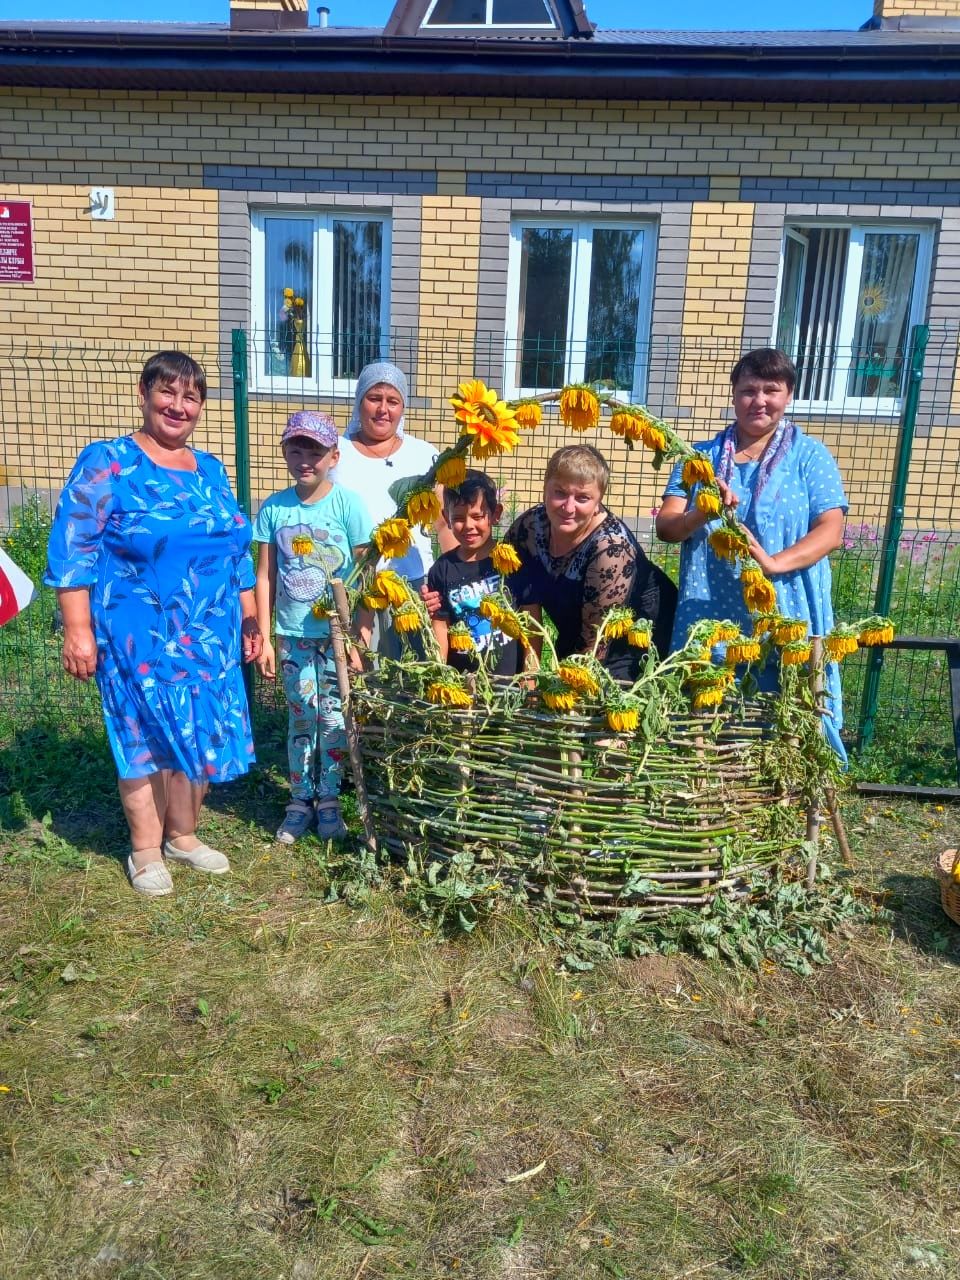
[[[900,394],[918,247],[909,233],[864,236],[850,396]]]

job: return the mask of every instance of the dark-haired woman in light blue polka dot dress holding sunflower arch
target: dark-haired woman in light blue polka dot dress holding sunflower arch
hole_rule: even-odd
[[[785,417],[796,369],[782,351],[762,347],[748,352],[733,366],[731,383],[736,420],[696,448],[713,463],[724,504],[736,507],[750,554],[773,582],[777,609],[805,621],[812,635],[826,635],[833,626],[828,556],[841,545],[847,509],[840,470],[824,444]],[[684,544],[675,649],[701,618],[730,618],[748,634],[751,627],[737,567],[719,559],[707,541],[718,521],[696,508],[696,488],[687,494],[680,472],[681,466],[673,468],[657,515],[658,536]],[[774,682],[771,667],[760,685]],[[826,692],[824,732],[846,762],[835,662],[827,664]]]

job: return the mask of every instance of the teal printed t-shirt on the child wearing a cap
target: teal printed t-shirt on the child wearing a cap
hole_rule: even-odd
[[[334,484],[324,498],[301,502],[296,489],[268,498],[253,522],[253,541],[276,547],[276,634],[325,636],[315,618],[317,599],[333,603],[330,579],[344,577],[353,549],[370,541],[372,522],[364,499]]]

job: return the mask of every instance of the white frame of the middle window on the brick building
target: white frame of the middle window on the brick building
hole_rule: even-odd
[[[563,362],[563,381],[579,383],[584,379],[586,360],[588,312],[590,306],[590,264],[594,230],[643,232],[640,301],[636,321],[636,356],[634,361],[634,385],[620,388],[621,394],[631,399],[643,399],[646,390],[649,369],[650,319],[653,312],[653,287],[657,265],[658,224],[649,218],[608,219],[602,214],[581,214],[570,218],[527,218],[516,216],[509,229],[509,259],[507,264],[507,329],[504,349],[504,389],[516,399],[521,396],[535,396],[556,390],[553,387],[520,387],[516,380],[520,352],[520,270],[522,253],[522,234],[527,228],[570,228],[573,232],[573,257],[571,264],[571,288],[567,300],[567,351]],[[575,360],[573,352],[582,356]]]

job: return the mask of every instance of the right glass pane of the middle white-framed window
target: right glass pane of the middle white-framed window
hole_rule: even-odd
[[[590,297],[584,380],[634,385],[644,233],[596,227],[590,256]]]

